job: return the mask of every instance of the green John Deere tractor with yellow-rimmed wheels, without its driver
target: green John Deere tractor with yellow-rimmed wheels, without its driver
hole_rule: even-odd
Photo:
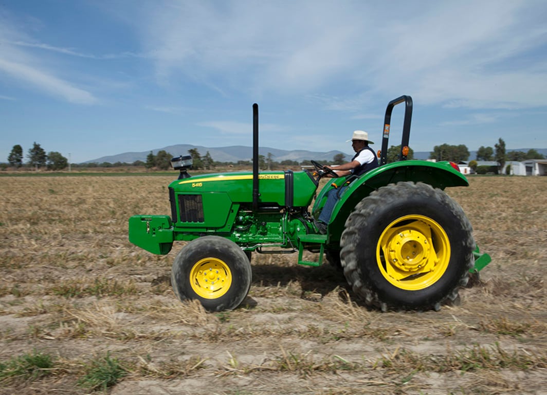
[[[398,161],[387,163],[391,113],[400,103],[401,151]],[[253,171],[190,176],[191,157],[173,158],[180,175],[169,185],[171,216],[131,217],[129,240],[154,254],[187,241],[174,259],[173,291],[209,311],[235,309],[245,299],[252,252],[298,252],[298,263],[311,266],[326,257],[344,271],[359,298],[382,311],[439,310],[490,257],[479,253],[469,220],[444,192],[468,185],[458,166],[406,159],[411,116],[410,96],[389,102],[379,167],[360,177],[329,178],[317,193],[319,180],[331,171],[316,161],[313,170],[259,172],[253,104]],[[343,185],[322,234],[314,219],[327,193]],[[316,260],[304,260],[304,251],[316,253]]]

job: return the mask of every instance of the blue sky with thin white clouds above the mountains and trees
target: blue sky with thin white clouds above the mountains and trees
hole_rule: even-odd
[[[253,103],[261,147],[349,154],[401,95],[414,151],[547,148],[546,21],[544,0],[3,0],[0,162],[251,146]]]

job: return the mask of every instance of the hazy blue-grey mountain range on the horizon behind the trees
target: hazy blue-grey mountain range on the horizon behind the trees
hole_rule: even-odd
[[[209,154],[211,155],[211,158],[213,158],[214,161],[218,161],[218,162],[236,163],[237,161],[240,161],[240,160],[252,160],[252,156],[253,156],[252,147],[245,147],[245,146],[208,148],[203,146],[193,146],[191,144],[176,144],[174,146],[152,149],[151,151],[154,155],[156,155],[158,154],[159,151],[165,150],[166,152],[170,153],[173,156],[178,156],[178,155],[188,155],[188,150],[190,149],[197,149],[197,152],[199,152],[200,155],[202,156],[205,155],[207,152],[209,152]],[[507,152],[510,152],[510,151],[528,152],[528,149],[529,148],[508,149]],[[543,148],[543,149],[536,148],[536,151],[540,154],[543,154],[544,156],[547,156],[547,148]],[[103,163],[103,162],[133,163],[137,160],[142,160],[143,162],[145,162],[146,157],[149,153],[150,151],[125,152],[125,153],[121,153],[117,155],[102,156],[101,158],[88,160],[84,163],[94,163],[94,162],[95,163]],[[334,158],[334,155],[336,154],[344,154],[345,159],[348,161],[351,159],[351,156],[352,156],[349,153],[344,153],[337,150],[332,150],[329,152],[314,152],[314,151],[307,151],[302,149],[284,150],[284,149],[277,149],[277,148],[270,148],[270,147],[260,147],[259,154],[264,156],[271,154],[272,159],[276,162],[281,162],[283,160],[295,160],[295,161],[301,162],[301,161],[310,160],[310,159],[317,160],[318,162],[322,162],[322,161],[326,162],[326,161],[331,161]],[[430,154],[429,151],[414,152],[414,159],[428,159],[429,154]],[[476,158],[476,151],[470,151],[469,159],[475,159],[475,158]]]

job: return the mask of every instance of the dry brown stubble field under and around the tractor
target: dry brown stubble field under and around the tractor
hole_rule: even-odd
[[[131,215],[170,213],[170,181],[0,178],[0,394],[88,393],[97,361],[123,369],[107,390],[119,395],[544,391],[544,177],[448,190],[493,262],[460,306],[423,313],[368,310],[334,269],[295,255],[254,254],[235,311],[179,303],[169,271],[182,245],[160,257],[127,241]],[[11,375],[36,355],[50,370]]]

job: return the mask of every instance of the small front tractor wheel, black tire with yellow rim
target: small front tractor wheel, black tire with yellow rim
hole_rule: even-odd
[[[181,301],[197,299],[208,311],[232,310],[251,288],[251,263],[234,242],[204,236],[188,243],[174,259],[171,285]]]

